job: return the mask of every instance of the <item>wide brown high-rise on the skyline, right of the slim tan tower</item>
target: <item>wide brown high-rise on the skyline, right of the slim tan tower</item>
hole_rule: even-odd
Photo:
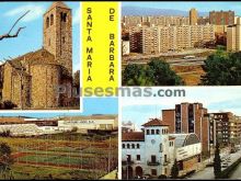
[[[210,11],[209,22],[216,25],[232,25],[234,24],[234,11]]]

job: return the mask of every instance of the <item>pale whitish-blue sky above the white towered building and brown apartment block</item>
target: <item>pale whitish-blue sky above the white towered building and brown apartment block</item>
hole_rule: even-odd
[[[176,88],[182,89],[182,87]],[[162,89],[167,89],[167,87]],[[241,116],[239,87],[188,87],[185,90],[185,98],[123,98],[122,121],[131,121],[140,128],[149,118],[160,118],[161,110],[174,109],[175,104],[181,102],[199,102],[208,109],[209,113],[230,111]]]

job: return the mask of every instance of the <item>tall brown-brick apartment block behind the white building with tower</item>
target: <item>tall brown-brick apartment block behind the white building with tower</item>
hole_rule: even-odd
[[[208,147],[208,117],[207,109],[202,103],[181,103],[175,109],[162,110],[162,121],[169,123],[169,132],[195,133],[202,142],[203,151],[207,152]]]

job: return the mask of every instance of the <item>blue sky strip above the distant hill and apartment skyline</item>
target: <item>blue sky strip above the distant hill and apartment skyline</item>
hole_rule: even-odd
[[[192,8],[196,8],[199,12],[209,12],[213,10],[232,10],[236,11],[237,15],[241,15],[241,1],[209,1],[209,2],[192,2],[192,1],[182,1],[182,2],[123,2],[123,7],[141,7],[141,8],[156,8],[156,9],[173,9],[173,10],[182,10],[187,11]]]

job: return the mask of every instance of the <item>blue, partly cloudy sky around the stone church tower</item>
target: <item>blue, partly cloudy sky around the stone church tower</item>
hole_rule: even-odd
[[[26,26],[19,37],[0,41],[0,60],[18,57],[42,48],[43,14],[53,2],[0,2],[0,35],[9,32],[13,23],[31,10],[13,30]],[[80,69],[80,2],[66,2],[72,9],[72,59],[73,71]]]

